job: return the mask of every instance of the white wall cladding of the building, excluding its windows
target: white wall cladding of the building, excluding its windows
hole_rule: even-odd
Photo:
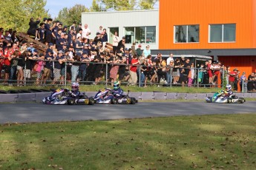
[[[156,43],[152,43],[150,46],[151,50],[159,49],[159,10],[82,13],[82,27],[85,24],[88,24],[91,30],[90,38],[96,36],[99,26],[107,29],[107,33],[109,33],[110,27],[119,27],[119,38],[124,35],[124,27],[156,26]],[[146,44],[142,44],[142,49],[145,46]],[[127,44],[127,47],[131,47],[131,44]]]

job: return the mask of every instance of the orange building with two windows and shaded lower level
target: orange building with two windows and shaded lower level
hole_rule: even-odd
[[[165,55],[209,55],[256,72],[255,0],[160,0],[159,30]]]

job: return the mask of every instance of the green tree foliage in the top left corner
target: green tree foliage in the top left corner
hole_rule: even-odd
[[[47,17],[46,0],[4,0],[0,1],[1,27],[27,32],[30,18]]]

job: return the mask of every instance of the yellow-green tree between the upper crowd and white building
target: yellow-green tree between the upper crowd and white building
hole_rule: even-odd
[[[63,8],[59,11],[59,15],[56,20],[62,21],[63,25],[70,26],[73,24],[73,21],[81,21],[81,13],[88,12],[89,9],[82,4],[75,4],[75,6],[70,8]]]

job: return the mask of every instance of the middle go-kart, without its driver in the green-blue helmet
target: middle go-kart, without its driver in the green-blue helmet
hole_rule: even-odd
[[[136,98],[129,97],[129,92],[126,95],[115,96],[111,89],[105,88],[100,89],[99,92],[94,96],[95,103],[107,103],[107,104],[135,104],[138,101]]]

